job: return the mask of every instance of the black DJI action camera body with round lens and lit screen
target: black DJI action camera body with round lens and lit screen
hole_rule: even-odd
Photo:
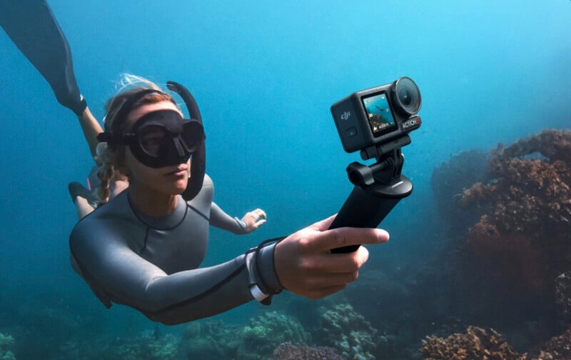
[[[377,157],[383,145],[406,138],[418,129],[420,90],[413,79],[403,76],[393,83],[376,86],[337,101],[331,114],[348,153],[361,150],[363,160]],[[380,155],[380,154],[379,154]]]

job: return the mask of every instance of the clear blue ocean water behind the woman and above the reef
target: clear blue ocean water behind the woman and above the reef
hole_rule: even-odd
[[[405,269],[430,258],[430,241],[443,236],[430,183],[436,166],[571,125],[568,0],[49,4],[98,119],[123,72],[185,84],[201,106],[216,203],[233,216],[268,213],[249,236],[213,229],[206,264],[338,211],[352,189],[345,166],[360,158],[343,151],[329,108],[353,91],[410,76],[423,96],[423,125],[403,148],[415,190],[381,225],[391,240],[370,249],[368,281],[367,272],[402,267],[391,281],[405,283],[415,272]],[[59,359],[54,349],[77,329],[56,326],[62,321],[109,336],[153,329],[136,311],[104,309],[69,266],[76,212],[67,184],[84,181],[92,165],[75,116],[4,32],[0,74],[0,333],[18,344],[33,329],[35,344],[51,349],[43,359]],[[316,306],[292,297],[275,302]],[[383,314],[370,305],[360,307],[365,318]],[[248,304],[217,318],[239,324],[261,311]]]

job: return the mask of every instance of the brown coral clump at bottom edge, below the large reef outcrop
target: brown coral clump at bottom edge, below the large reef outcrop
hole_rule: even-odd
[[[453,334],[443,339],[427,336],[420,349],[427,360],[522,360],[522,355],[507,344],[500,334],[470,326],[465,334]]]

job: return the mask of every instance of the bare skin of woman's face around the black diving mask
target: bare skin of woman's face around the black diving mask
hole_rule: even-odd
[[[181,112],[171,101],[161,101],[156,104],[143,105],[131,111],[131,113],[128,114],[127,121],[131,127],[141,116],[157,110],[175,110],[178,113]],[[126,146],[125,149],[125,165],[131,172],[131,186],[138,186],[143,191],[156,192],[164,195],[182,194],[188,184],[188,176],[191,171],[190,160],[183,164],[163,166],[158,169],[145,166],[133,156],[128,146]]]

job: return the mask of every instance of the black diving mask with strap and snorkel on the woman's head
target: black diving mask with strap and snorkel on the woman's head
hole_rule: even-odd
[[[188,184],[186,185],[186,189],[183,191],[183,193],[181,194],[183,196],[183,199],[185,201],[190,201],[192,199],[194,199],[194,197],[201,191],[202,189],[202,185],[203,185],[203,181],[204,181],[204,174],[206,172],[206,145],[205,145],[205,139],[206,136],[204,136],[204,131],[203,131],[203,124],[202,124],[202,116],[200,113],[200,110],[198,109],[198,104],[196,104],[196,100],[194,99],[194,97],[192,96],[191,92],[188,91],[188,89],[186,89],[184,86],[182,86],[181,84],[178,84],[174,81],[167,81],[166,86],[168,87],[169,90],[171,91],[175,91],[179,96],[181,96],[181,98],[184,101],[184,104],[186,104],[186,109],[188,110],[188,115],[190,117],[190,119],[188,119],[188,121],[186,121],[186,123],[193,123],[190,125],[194,125],[195,129],[196,129],[196,145],[192,146],[192,149],[183,149],[181,146],[181,142],[176,140],[177,145],[177,150],[178,150],[178,156],[175,157],[174,161],[166,164],[161,165],[161,159],[151,159],[148,160],[148,154],[144,154],[144,151],[138,151],[140,149],[132,149],[133,151],[133,155],[135,155],[136,157],[138,156],[139,161],[142,161],[143,164],[146,164],[147,166],[153,167],[153,168],[158,168],[161,166],[166,166],[166,165],[172,165],[174,163],[178,164],[179,161],[182,162],[186,162],[188,161],[189,158],[192,158],[191,160],[191,176],[188,179]],[[135,94],[132,94],[131,96],[128,97],[128,99],[126,99],[126,101],[123,103],[123,105],[121,105],[121,108],[118,110],[117,114],[115,115],[116,119],[123,119],[126,118],[126,116],[128,116],[128,114],[131,112],[133,105],[139,100],[142,99],[144,96],[148,95],[148,94],[152,94],[152,93],[159,93],[161,94],[162,91],[158,91],[155,89],[144,89],[141,91],[136,92]],[[165,111],[162,111],[163,113],[165,113]],[[166,111],[166,114],[168,114],[171,111]],[[174,113],[174,111],[172,111]],[[153,113],[158,114],[161,113],[161,111],[153,111]],[[149,113],[149,114],[153,114],[153,113]],[[178,114],[176,115],[178,116]],[[145,116],[143,116],[145,117]],[[141,118],[143,119],[143,118]],[[141,120],[140,119],[140,120]],[[183,121],[183,119],[181,119],[180,116],[178,116],[178,121]],[[113,124],[115,124],[113,122]],[[97,136],[97,140],[101,141],[101,142],[107,142],[111,148],[114,148],[116,146],[116,144],[126,144],[129,143],[133,137],[135,137],[136,134],[116,134],[116,131],[113,131],[113,125],[111,125],[111,129],[107,129],[106,126],[106,131],[104,131],[101,134],[98,134]],[[131,145],[132,146],[132,145]],[[186,152],[185,152],[186,151]],[[145,156],[145,157],[142,157]],[[157,155],[158,156],[158,155]],[[177,161],[178,159],[178,161]],[[172,161],[172,156],[169,158],[169,161]]]

